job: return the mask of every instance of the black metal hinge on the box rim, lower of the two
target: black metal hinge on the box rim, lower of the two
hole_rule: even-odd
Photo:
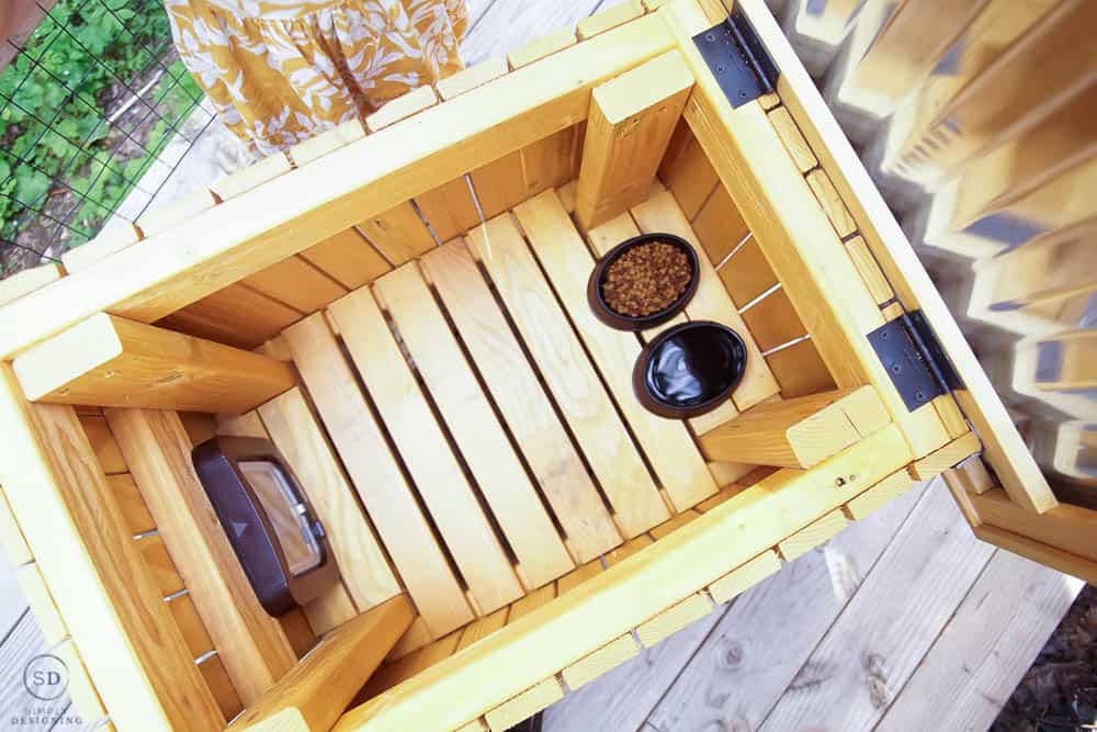
[[[911,412],[942,394],[963,388],[921,311],[904,313],[870,333],[868,338]]]

